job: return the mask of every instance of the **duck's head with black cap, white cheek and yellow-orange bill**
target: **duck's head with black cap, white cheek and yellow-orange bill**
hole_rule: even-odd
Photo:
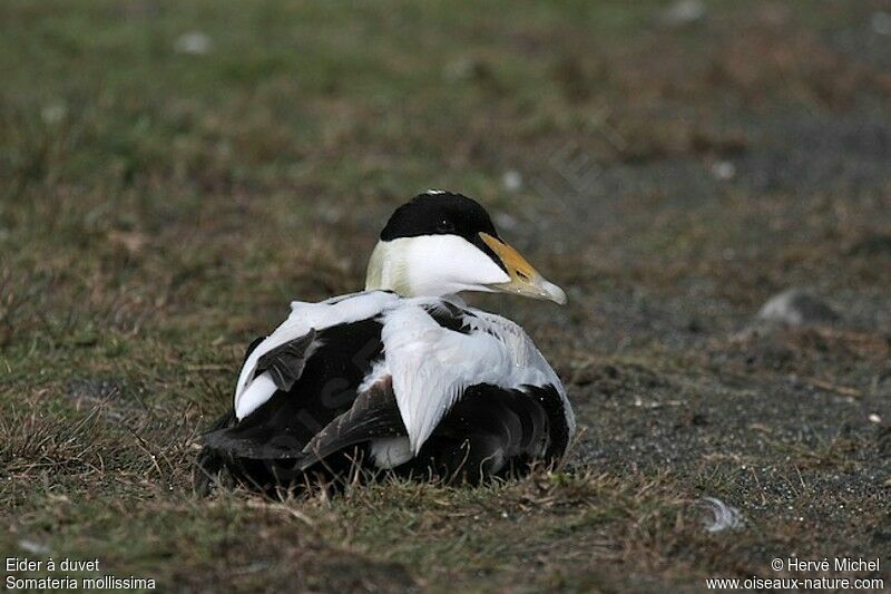
[[[396,208],[371,255],[365,289],[402,296],[501,292],[566,303],[562,289],[499,237],[479,203],[442,191]]]

